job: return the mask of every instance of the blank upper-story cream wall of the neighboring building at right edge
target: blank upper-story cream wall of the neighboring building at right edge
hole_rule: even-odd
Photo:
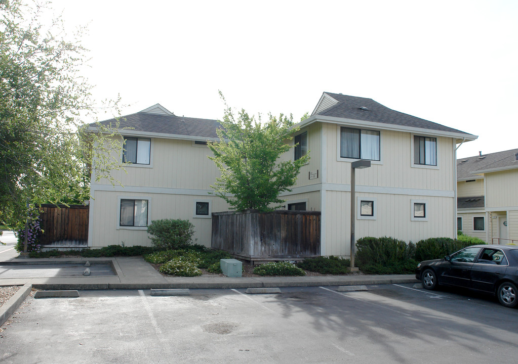
[[[486,206],[518,207],[518,170],[486,173]]]

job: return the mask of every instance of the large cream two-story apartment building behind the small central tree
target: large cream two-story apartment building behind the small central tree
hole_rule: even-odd
[[[162,218],[189,219],[198,242],[210,246],[211,212],[227,210],[210,194],[219,172],[204,145],[217,139],[217,121],[155,105],[123,117],[121,127],[133,129],[122,131],[126,146],[117,158],[133,164],[127,174],[114,172],[122,186],[92,178],[89,246],[147,245],[147,224]],[[322,211],[322,255],[350,254],[351,162],[358,159],[371,166],[356,173],[357,238],[456,235],[456,148],[476,136],[332,93],[298,127],[297,146],[282,159],[308,150],[311,159],[283,198],[288,209]]]

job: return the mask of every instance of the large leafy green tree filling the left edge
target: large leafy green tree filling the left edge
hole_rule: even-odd
[[[82,29],[68,38],[60,18],[45,27],[47,6],[0,0],[0,224],[16,228],[30,206],[82,202],[92,169],[109,178],[120,165],[106,157],[121,148],[117,126],[93,134],[82,123],[99,110],[80,75]]]

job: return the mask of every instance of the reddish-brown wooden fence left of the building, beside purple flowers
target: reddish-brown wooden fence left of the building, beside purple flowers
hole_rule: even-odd
[[[41,245],[50,245],[56,241],[88,241],[89,206],[83,205],[40,205]]]

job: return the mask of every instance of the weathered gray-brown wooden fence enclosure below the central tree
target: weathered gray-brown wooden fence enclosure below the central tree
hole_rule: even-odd
[[[301,260],[320,256],[320,211],[212,213],[212,242],[241,259]]]

